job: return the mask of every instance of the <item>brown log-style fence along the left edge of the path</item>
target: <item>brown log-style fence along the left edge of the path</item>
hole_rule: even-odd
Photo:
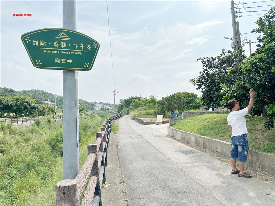
[[[63,179],[56,183],[57,206],[79,205],[84,190],[80,205],[102,206],[101,185],[106,182],[105,167],[107,166],[111,126],[114,120],[122,116],[123,114],[117,114],[107,119],[101,127],[101,132],[96,133],[95,144],[88,145],[88,157],[75,179]]]

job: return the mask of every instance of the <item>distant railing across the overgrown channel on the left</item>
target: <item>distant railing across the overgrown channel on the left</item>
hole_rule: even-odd
[[[83,116],[90,116],[94,113],[87,113],[87,114],[80,114],[80,117]],[[45,119],[50,117],[51,119],[55,119],[54,115],[48,115],[48,116],[36,116],[36,117],[11,117],[11,118],[0,118],[0,124],[8,124],[11,123],[11,125],[18,125],[18,124],[24,124],[24,123],[33,123],[37,119]],[[60,120],[63,118],[63,115],[56,115],[56,120]]]

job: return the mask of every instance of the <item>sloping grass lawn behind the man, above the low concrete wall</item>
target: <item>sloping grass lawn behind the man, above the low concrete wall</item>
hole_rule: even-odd
[[[186,132],[230,142],[228,114],[203,114],[182,120],[172,127]],[[249,148],[260,152],[275,153],[275,129],[264,128],[266,119],[246,117]]]

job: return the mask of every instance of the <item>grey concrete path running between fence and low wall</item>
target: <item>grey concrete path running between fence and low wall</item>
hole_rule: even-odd
[[[225,163],[168,138],[168,124],[141,125],[130,116],[118,123],[128,205],[275,205],[275,185],[232,175]]]

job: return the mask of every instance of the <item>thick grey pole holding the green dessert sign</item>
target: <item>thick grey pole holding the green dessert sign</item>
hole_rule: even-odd
[[[76,0],[63,0],[63,29],[76,31]],[[63,70],[63,179],[79,172],[78,71]]]

